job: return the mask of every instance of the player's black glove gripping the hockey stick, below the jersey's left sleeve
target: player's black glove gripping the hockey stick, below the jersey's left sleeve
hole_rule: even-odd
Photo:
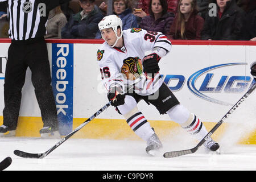
[[[125,104],[125,95],[121,94],[122,89],[119,86],[114,86],[110,88],[108,92],[108,99],[112,106],[119,106]]]

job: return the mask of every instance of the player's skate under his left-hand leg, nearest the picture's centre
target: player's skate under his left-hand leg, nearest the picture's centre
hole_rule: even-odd
[[[159,148],[162,148],[163,144],[160,142],[158,135],[155,133],[147,140],[146,152],[150,155],[156,155]]]

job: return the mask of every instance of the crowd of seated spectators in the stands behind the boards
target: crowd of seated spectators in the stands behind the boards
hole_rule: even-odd
[[[169,39],[256,41],[255,0],[113,0],[123,30],[143,28]],[[72,0],[51,10],[51,39],[101,39],[98,23],[108,0]],[[8,37],[6,2],[0,2],[0,38]]]

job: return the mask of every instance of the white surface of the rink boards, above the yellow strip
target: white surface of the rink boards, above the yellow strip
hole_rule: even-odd
[[[0,57],[7,57],[9,45],[10,43],[0,43]],[[47,46],[49,61],[51,61],[51,43],[48,43]],[[100,44],[74,44],[73,118],[89,118],[108,102],[105,90],[101,87],[100,70],[96,58],[98,47],[100,47]],[[255,60],[256,46],[173,45],[172,51],[160,60],[160,73],[164,75],[163,78],[166,78],[166,75],[183,77],[183,85],[178,90],[173,91],[175,96],[181,104],[196,115],[199,115],[202,121],[212,122],[218,121],[226,114],[230,107],[249,88],[252,82],[249,65]],[[220,64],[232,63],[239,64],[217,67]],[[2,61],[3,72],[5,72],[5,64],[5,61]],[[207,101],[193,94],[191,89],[188,88],[187,82],[193,73],[213,66],[216,66],[216,68],[194,77],[195,88],[196,90],[203,89],[199,91],[200,94],[229,105]],[[207,74],[212,75],[212,77],[208,79],[208,84],[203,85],[203,82],[207,81],[205,80]],[[0,73],[0,77],[4,77],[4,73]],[[224,77],[226,77],[226,80],[222,82],[222,89],[214,92],[221,78]],[[230,82],[232,85],[226,88],[229,79],[237,77],[245,77],[247,81],[234,79],[233,82]],[[178,81],[177,79],[172,79],[168,86],[177,86]],[[3,82],[3,79],[0,80],[0,115],[2,115],[4,107]],[[247,85],[238,92],[241,84]],[[205,89],[213,89],[213,91],[205,91]],[[27,71],[26,83],[22,92],[20,116],[40,117],[40,110],[31,84],[31,72],[29,70]],[[152,105],[148,106],[146,103],[140,102],[138,107],[147,119],[169,120],[167,115],[160,116]],[[98,118],[122,119],[121,115],[117,114],[113,107],[104,111]]]

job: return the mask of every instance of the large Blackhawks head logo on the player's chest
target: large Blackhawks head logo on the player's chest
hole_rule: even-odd
[[[128,57],[123,60],[121,72],[127,80],[135,80],[142,74],[142,61],[139,57]]]

